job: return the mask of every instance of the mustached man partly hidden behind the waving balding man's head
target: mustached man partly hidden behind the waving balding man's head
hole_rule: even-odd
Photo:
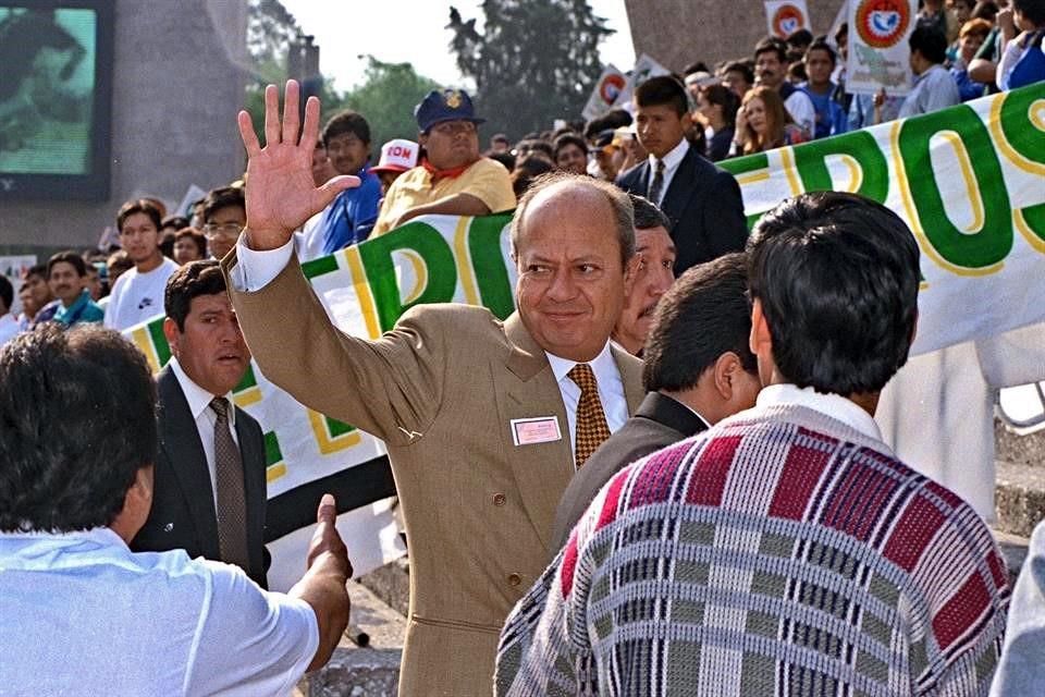
[[[661,210],[641,196],[631,194],[635,207],[635,254],[639,268],[635,285],[624,303],[620,318],[610,335],[632,356],[641,357],[646,335],[653,323],[656,302],[675,281],[675,243],[667,233],[672,224]]]

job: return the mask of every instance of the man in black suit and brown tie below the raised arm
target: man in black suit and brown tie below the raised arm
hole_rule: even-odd
[[[163,333],[174,357],[157,378],[152,510],[131,547],[184,549],[189,557],[236,564],[265,588],[265,440],[258,423],[232,402],[250,352],[218,261],[175,271],[163,305]]]

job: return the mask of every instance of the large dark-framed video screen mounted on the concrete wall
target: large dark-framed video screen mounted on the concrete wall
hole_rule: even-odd
[[[0,199],[108,198],[112,4],[0,0]]]

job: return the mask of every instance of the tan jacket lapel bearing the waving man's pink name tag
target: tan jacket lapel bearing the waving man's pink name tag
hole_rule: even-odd
[[[555,382],[544,351],[533,341],[518,313],[504,323],[509,352],[503,370],[494,375],[499,417],[503,421],[507,462],[515,476],[518,496],[530,522],[545,548],[551,542],[551,526],[558,499],[574,476],[574,454],[569,423],[562,393]],[[516,445],[512,420],[555,417],[562,438],[548,443]]]

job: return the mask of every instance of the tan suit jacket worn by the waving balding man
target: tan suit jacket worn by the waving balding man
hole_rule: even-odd
[[[226,274],[234,264],[229,255]],[[491,694],[499,633],[548,563],[555,509],[574,474],[544,352],[518,315],[501,322],[465,305],[414,307],[377,341],[347,337],[296,258],[260,291],[233,290],[232,299],[269,380],[388,444],[410,550],[399,694]],[[644,394],[641,364],[613,355],[631,413]],[[561,440],[514,444],[512,419],[548,416],[558,419]]]

